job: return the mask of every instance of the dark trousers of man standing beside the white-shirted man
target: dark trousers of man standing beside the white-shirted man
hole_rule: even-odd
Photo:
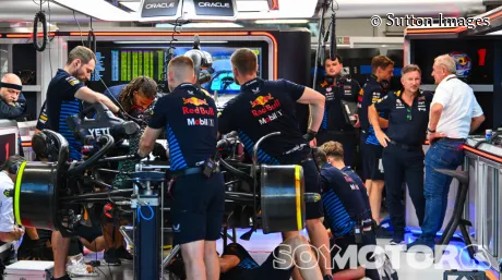
[[[386,204],[395,235],[405,233],[405,208],[403,206],[403,182],[408,185],[408,193],[415,206],[420,227],[426,212],[423,196],[423,150],[421,146],[405,149],[389,143],[383,149],[382,163],[385,174]]]

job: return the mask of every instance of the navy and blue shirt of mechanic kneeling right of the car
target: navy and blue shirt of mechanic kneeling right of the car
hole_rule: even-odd
[[[321,169],[322,202],[334,236],[352,234],[358,221],[371,224],[371,208],[361,179],[349,168],[325,163]]]

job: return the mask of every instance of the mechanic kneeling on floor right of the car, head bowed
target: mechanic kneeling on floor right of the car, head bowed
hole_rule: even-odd
[[[331,252],[332,259],[337,254],[343,257],[349,253],[349,246],[357,246],[358,252],[367,245],[375,246],[367,190],[362,180],[345,166],[342,144],[332,141],[324,143],[316,149],[315,160],[321,168],[322,202],[333,234],[331,247],[336,244],[338,248],[337,252]],[[373,257],[369,256],[366,259],[373,261]],[[359,260],[359,265],[364,265]],[[354,268],[349,264],[345,267],[333,264],[333,272],[334,279],[380,279],[375,269]]]

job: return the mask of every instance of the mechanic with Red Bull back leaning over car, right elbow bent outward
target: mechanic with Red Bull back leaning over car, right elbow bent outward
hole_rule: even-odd
[[[319,172],[312,161],[309,142],[313,141],[324,112],[324,96],[291,82],[264,81],[256,77],[258,59],[250,49],[238,49],[230,58],[236,83],[241,93],[228,101],[219,117],[220,134],[237,131],[244,149],[253,155],[253,145],[263,136],[280,132],[264,141],[258,153],[260,163],[300,165],[303,167],[306,192],[320,193]],[[296,102],[310,105],[309,131],[302,135],[294,114]],[[328,254],[328,238],[322,223],[322,203],[306,205],[307,230],[312,244]],[[298,232],[284,233],[287,239]],[[324,245],[324,246],[322,246]],[[323,275],[328,275],[327,260],[320,259]]]

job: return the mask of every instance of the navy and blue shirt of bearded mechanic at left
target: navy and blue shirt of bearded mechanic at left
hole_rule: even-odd
[[[61,134],[70,145],[70,159],[81,160],[82,144],[75,139],[67,124],[67,118],[82,111],[82,102],[75,98],[85,85],[67,71],[59,69],[47,88],[47,119],[50,130]]]

